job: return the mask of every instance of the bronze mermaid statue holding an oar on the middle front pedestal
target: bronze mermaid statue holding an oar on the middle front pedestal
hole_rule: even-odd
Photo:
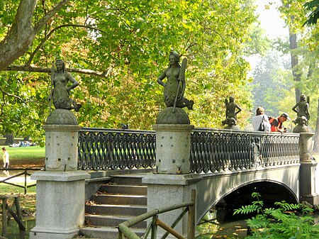
[[[193,109],[194,101],[184,97],[186,64],[187,60],[184,58],[179,65],[179,54],[170,52],[169,67],[157,78],[157,82],[164,87],[164,103],[167,107],[174,107],[173,112],[175,107]],[[167,77],[166,84],[162,82],[165,77]]]

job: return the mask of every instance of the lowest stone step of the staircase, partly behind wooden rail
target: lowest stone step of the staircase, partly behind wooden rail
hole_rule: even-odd
[[[132,229],[140,238],[145,234],[145,229]],[[116,239],[118,238],[118,228],[113,227],[84,227],[80,228],[80,234],[95,239]]]

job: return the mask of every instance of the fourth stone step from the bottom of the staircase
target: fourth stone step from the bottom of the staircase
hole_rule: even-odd
[[[99,204],[147,205],[147,196],[94,194],[93,201],[96,201]]]

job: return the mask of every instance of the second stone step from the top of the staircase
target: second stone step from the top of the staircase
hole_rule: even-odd
[[[108,194],[147,195],[147,187],[137,185],[102,184],[99,191],[105,191]]]

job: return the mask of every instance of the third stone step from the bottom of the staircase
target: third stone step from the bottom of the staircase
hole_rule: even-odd
[[[99,215],[128,215],[138,216],[147,212],[147,206],[140,205],[114,205],[114,204],[101,204],[101,205],[86,205],[86,213],[99,214]]]

